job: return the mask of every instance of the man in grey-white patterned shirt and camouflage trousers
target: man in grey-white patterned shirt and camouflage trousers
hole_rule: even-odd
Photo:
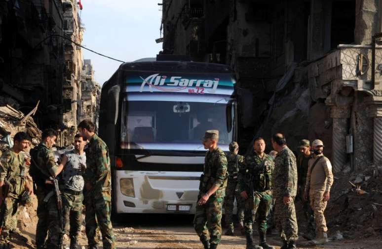
[[[65,152],[60,163],[65,165],[60,182],[60,186],[63,186],[61,190],[64,216],[62,236],[69,231],[70,249],[77,249],[78,234],[81,231],[84,186],[82,175],[86,165],[86,155],[83,151],[85,144],[86,139],[76,134],[74,150]]]

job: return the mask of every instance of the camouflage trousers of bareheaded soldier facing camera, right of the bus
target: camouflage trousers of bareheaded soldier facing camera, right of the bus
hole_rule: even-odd
[[[248,196],[245,200],[244,228],[245,233],[253,233],[252,225],[256,220],[258,229],[267,232],[267,216],[272,205],[272,195],[270,191],[255,191],[253,196]]]

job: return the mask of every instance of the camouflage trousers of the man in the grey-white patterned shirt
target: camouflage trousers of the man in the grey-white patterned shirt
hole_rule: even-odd
[[[71,242],[76,242],[81,232],[83,194],[81,192],[76,195],[64,190],[61,197],[64,216],[62,236],[69,233]]]

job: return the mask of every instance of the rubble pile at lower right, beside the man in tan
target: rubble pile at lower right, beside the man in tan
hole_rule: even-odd
[[[331,233],[349,239],[382,235],[382,165],[337,175],[325,211]]]

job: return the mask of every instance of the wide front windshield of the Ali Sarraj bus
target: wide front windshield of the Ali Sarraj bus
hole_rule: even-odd
[[[121,145],[145,149],[150,144],[201,145],[209,129],[219,130],[219,144],[228,145],[233,139],[233,110],[229,101],[125,101]]]

